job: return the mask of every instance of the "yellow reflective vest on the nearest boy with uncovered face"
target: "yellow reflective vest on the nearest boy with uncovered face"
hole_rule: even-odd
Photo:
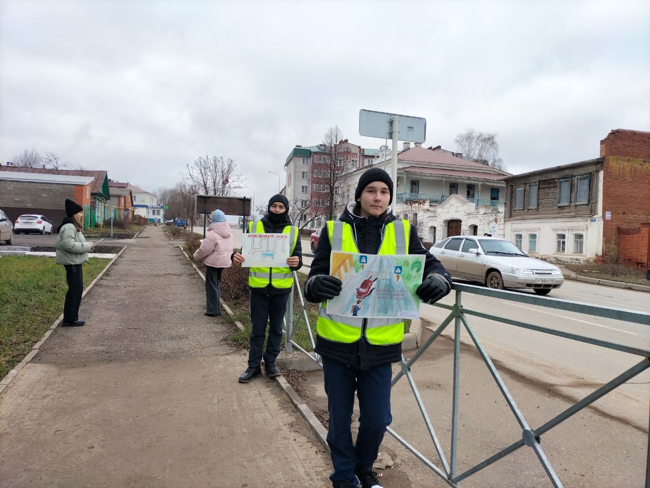
[[[332,251],[359,253],[350,224],[342,221],[329,221],[326,225]],[[410,231],[411,224],[408,221],[395,220],[386,224],[377,254],[408,254]],[[402,338],[404,338],[404,322],[397,318],[344,317],[328,314],[326,308],[327,301],[324,301],[318,310],[316,330],[319,336],[327,340],[351,344],[365,334],[369,344],[389,346],[402,342]]]

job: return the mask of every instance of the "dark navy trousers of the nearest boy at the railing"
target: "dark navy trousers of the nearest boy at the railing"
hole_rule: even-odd
[[[331,481],[357,485],[355,472],[372,469],[383,435],[393,421],[391,415],[391,364],[355,370],[337,360],[323,359],[323,379],[330,411],[330,446],[334,472]],[[352,442],[354,392],[359,398],[359,433]]]

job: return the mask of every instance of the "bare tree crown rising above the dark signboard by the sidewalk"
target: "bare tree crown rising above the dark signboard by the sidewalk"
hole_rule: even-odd
[[[237,163],[223,156],[199,156],[191,165],[188,163],[187,174],[182,174],[183,181],[202,195],[227,197],[234,190],[242,188],[244,178],[238,174]]]

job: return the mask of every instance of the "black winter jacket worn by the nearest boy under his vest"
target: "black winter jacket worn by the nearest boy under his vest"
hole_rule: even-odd
[[[396,217],[391,213],[391,208],[380,217],[358,217],[352,213],[354,202],[348,204],[343,211],[339,220],[348,224],[355,224],[357,231],[357,248],[364,254],[377,254],[381,245],[381,231],[384,224],[395,221]],[[447,278],[451,284],[451,277],[445,267],[429,251],[422,247],[420,239],[417,236],[417,230],[411,224],[409,233],[408,254],[424,254],[424,277],[431,273],[438,273]],[[317,303],[318,300],[309,294],[309,280],[315,275],[330,274],[330,254],[331,243],[330,236],[326,228],[320,232],[318,245],[314,253],[314,259],[311,263],[311,271],[305,283],[305,298],[307,301]],[[333,360],[343,362],[347,366],[365,370],[383,364],[385,362],[398,362],[402,358],[402,344],[393,344],[391,346],[374,346],[367,342],[365,336],[352,344],[343,344],[333,342],[317,336],[316,347],[314,349],[318,354]]]

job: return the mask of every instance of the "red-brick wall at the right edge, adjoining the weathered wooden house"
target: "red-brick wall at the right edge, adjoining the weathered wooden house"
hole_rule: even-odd
[[[603,221],[603,247],[606,247],[620,245],[619,229],[634,229],[650,223],[650,132],[611,131],[601,141],[601,156],[605,158],[603,219],[606,212],[611,212],[611,219]],[[620,235],[627,236],[625,232]],[[632,254],[627,258],[633,262],[643,261],[642,250],[637,256]]]

